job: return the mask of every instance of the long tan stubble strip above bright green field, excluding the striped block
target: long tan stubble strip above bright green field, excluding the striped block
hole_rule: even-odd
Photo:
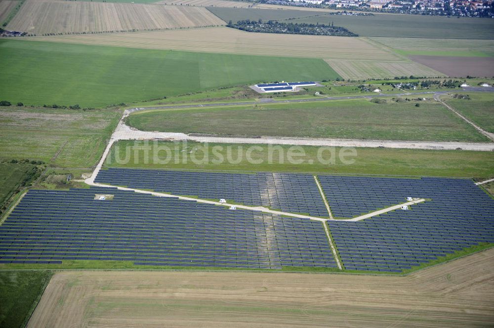
[[[249,33],[227,27],[107,35],[40,36],[26,39],[245,55],[403,60],[402,57],[378,49],[357,37]]]

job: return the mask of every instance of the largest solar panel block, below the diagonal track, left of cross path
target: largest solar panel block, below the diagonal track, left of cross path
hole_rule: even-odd
[[[96,200],[96,194],[113,194]],[[0,263],[335,267],[321,222],[116,188],[30,190],[0,226]]]

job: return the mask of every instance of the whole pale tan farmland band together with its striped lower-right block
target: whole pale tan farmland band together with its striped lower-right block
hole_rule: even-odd
[[[218,27],[106,35],[37,36],[32,39],[133,48],[323,58],[342,77],[351,79],[444,75],[412,62],[380,43],[357,37],[274,35]]]

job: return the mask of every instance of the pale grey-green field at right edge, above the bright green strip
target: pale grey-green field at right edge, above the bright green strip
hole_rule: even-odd
[[[403,55],[494,57],[494,41],[412,37],[371,37]]]

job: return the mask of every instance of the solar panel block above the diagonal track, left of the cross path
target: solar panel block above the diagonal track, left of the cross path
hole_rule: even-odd
[[[308,174],[225,174],[110,168],[95,182],[181,196],[228,199],[291,213],[328,217],[314,177]]]

